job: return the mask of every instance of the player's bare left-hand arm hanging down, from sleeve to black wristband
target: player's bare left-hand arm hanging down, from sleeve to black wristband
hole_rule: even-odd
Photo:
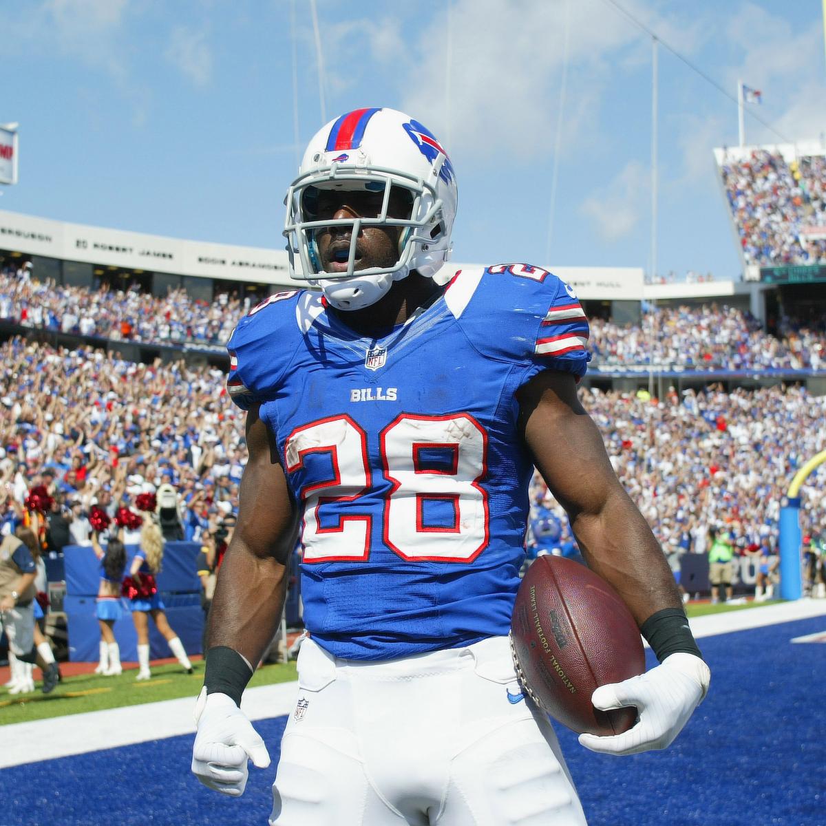
[[[254,666],[281,619],[297,515],[275,438],[258,406],[247,413],[246,440],[249,460],[241,478],[238,523],[212,601],[209,647],[233,648]]]

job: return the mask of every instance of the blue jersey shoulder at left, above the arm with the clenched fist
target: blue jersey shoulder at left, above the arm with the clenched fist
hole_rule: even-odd
[[[226,344],[226,390],[242,410],[273,397],[296,352],[301,328],[297,306],[303,290],[274,292],[235,326]]]

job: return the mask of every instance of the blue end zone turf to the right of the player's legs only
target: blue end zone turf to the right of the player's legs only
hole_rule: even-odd
[[[698,640],[708,697],[663,752],[587,752],[557,727],[591,826],[823,826],[826,617]],[[648,653],[648,667],[656,663]]]

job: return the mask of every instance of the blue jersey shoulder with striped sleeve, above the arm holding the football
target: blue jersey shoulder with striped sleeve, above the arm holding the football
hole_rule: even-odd
[[[445,301],[488,358],[585,374],[591,360],[585,311],[572,287],[547,269],[503,263],[460,270]]]

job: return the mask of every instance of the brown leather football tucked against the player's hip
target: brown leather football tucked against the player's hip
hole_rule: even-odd
[[[634,617],[619,594],[581,563],[544,555],[516,593],[510,645],[523,688],[539,708],[577,733],[627,731],[633,707],[591,705],[598,686],[645,671]]]

